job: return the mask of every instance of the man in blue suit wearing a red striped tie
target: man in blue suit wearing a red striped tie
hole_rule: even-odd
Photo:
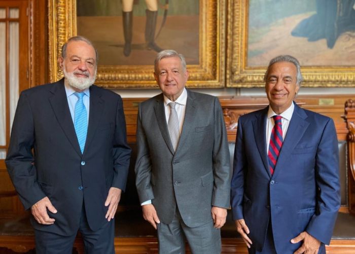
[[[231,182],[237,231],[249,253],[326,253],[340,207],[333,120],[301,109],[296,58],[273,58],[269,106],[239,117]]]

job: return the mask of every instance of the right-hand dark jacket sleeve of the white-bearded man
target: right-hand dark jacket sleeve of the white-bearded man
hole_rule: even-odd
[[[120,188],[124,191],[129,171],[131,148],[127,144],[126,121],[121,97],[119,98],[116,112],[116,129],[113,147],[114,179],[112,187]]]

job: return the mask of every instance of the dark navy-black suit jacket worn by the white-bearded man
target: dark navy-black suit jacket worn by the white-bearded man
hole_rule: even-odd
[[[95,85],[81,153],[62,79],[21,93],[6,165],[25,209],[47,196],[58,210],[53,225],[33,227],[73,235],[83,201],[92,230],[107,221],[105,199],[110,187],[125,189],[130,153],[121,97]]]

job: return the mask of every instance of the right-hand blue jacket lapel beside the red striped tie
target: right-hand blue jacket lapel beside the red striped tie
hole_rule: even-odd
[[[295,110],[292,114],[285,140],[282,143],[281,151],[278,156],[275,172],[272,175],[272,178],[277,177],[282,170],[287,171],[285,166],[289,163],[288,158],[308,128],[309,122],[305,120],[306,118],[307,115],[304,110],[295,103]]]

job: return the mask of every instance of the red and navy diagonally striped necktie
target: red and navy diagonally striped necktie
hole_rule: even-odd
[[[282,138],[282,124],[280,115],[274,115],[274,128],[272,128],[269,144],[269,169],[271,175],[274,173],[278,155],[280,154],[283,138]]]

